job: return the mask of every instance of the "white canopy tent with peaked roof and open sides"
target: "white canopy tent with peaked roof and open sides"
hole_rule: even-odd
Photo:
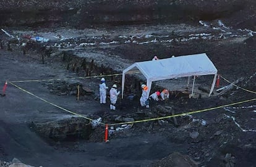
[[[137,73],[138,70],[147,79],[147,86],[149,91],[153,81],[194,76],[192,94],[194,89],[195,76],[214,75],[209,96],[213,92],[218,72],[215,65],[213,65],[205,53],[182,55],[168,59],[136,62],[122,71],[122,98],[124,97],[124,83],[126,74]]]

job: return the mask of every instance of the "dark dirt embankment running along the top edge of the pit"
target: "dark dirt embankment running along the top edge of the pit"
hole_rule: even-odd
[[[1,1],[0,17],[8,19],[0,20],[0,25],[33,27],[62,25],[83,28],[227,18],[234,25],[250,23],[255,28],[253,24],[255,4],[256,2],[252,0]],[[238,22],[238,20],[242,21]]]

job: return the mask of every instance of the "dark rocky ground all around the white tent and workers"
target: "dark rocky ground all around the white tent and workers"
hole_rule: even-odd
[[[91,10],[87,12],[73,8],[73,1],[60,2],[54,12],[44,7],[56,3],[40,3],[38,8],[45,9],[40,10],[43,17],[35,16],[34,22],[26,14],[32,12],[35,2],[20,1],[19,7],[12,1],[1,2],[1,7],[13,12],[10,19],[1,20],[0,32],[2,86],[9,82],[0,101],[2,166],[20,161],[32,166],[255,166],[254,2],[142,1],[147,4],[142,14],[124,12],[122,17],[109,12],[110,4],[105,1],[88,1]],[[100,7],[90,8],[98,3]],[[116,4],[117,13],[129,11],[133,5]],[[176,14],[185,9],[189,12],[184,19],[175,20],[174,13],[163,8],[166,4],[183,9],[176,9]],[[194,7],[203,10],[195,12]],[[23,12],[19,22],[15,21],[24,8],[28,13]],[[149,17],[145,11],[151,9],[155,12]],[[61,17],[66,10],[72,10],[69,14],[74,14],[74,26],[70,26],[72,22],[65,24],[67,20],[62,22],[63,18],[70,19],[70,15]],[[96,12],[92,21],[95,11],[103,12]],[[46,14],[53,13],[45,20]],[[6,17],[4,12],[2,15]],[[78,26],[80,17],[93,26]],[[105,24],[99,26],[103,21]],[[116,112],[99,104],[101,76],[117,74],[105,76],[106,83],[120,86],[119,73],[134,62],[151,60],[153,55],[163,59],[198,53],[206,53],[215,64],[221,75],[220,88],[226,86],[223,91],[215,89],[211,97],[205,97],[211,83],[208,76],[197,78],[192,98],[188,98],[184,79],[159,81],[153,90],[168,88],[171,97],[151,102],[146,109],[139,106],[139,86],[144,80],[131,76],[125,97],[132,94],[133,100],[119,99]],[[203,110],[206,108],[210,110]],[[199,110],[203,111],[118,124]],[[88,118],[100,119],[102,124],[92,126]],[[108,143],[104,141],[103,123],[113,124]],[[14,157],[19,161],[12,160]]]

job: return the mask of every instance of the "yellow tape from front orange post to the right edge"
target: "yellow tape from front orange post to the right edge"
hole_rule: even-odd
[[[207,111],[210,111],[210,110],[216,110],[218,108],[228,107],[230,105],[236,105],[236,104],[242,104],[242,103],[245,103],[245,102],[251,102],[251,101],[254,101],[254,100],[256,100],[256,99],[244,100],[244,101],[236,102],[236,103],[233,103],[233,104],[226,104],[226,105],[221,105],[221,106],[218,106],[218,107],[206,108],[206,109],[197,110],[197,111],[194,111],[194,112],[179,113],[179,114],[176,114],[176,115],[169,115],[169,116],[163,116],[163,117],[158,117],[158,118],[150,118],[150,119],[146,119],[146,120],[130,121],[130,122],[124,122],[124,123],[113,123],[113,124],[108,124],[108,125],[113,126],[113,125],[118,125],[118,124],[132,124],[132,123],[142,123],[142,122],[147,122],[147,121],[164,120],[164,119],[167,119],[167,118],[173,118],[173,117],[177,117],[177,116],[186,116],[186,115],[190,115],[190,114],[194,114],[194,113],[207,112]]]

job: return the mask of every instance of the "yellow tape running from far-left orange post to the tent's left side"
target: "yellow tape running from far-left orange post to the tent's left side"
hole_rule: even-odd
[[[117,76],[122,75],[122,73],[109,74],[109,75],[95,75],[95,76],[84,76],[77,78],[56,78],[56,79],[32,79],[32,80],[20,80],[20,81],[11,81],[12,83],[25,83],[25,82],[40,82],[40,81],[59,81],[59,80],[68,80],[68,79],[85,79],[85,78],[101,78],[105,76]]]

